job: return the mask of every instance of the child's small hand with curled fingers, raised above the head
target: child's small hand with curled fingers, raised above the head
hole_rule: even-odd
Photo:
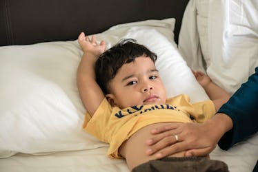
[[[95,56],[99,56],[99,54],[102,54],[106,49],[105,42],[101,41],[101,43],[98,44],[95,35],[93,35],[92,39],[90,40],[89,36],[85,36],[85,34],[81,32],[78,37],[78,42],[84,53],[89,52]]]

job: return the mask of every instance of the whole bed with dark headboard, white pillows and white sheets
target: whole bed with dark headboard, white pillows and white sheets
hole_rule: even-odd
[[[208,98],[190,68],[230,94],[258,66],[257,1],[0,1],[0,171],[128,171],[82,131],[80,32],[108,47],[136,39],[158,55],[168,96]],[[258,96],[258,95],[257,95]],[[258,135],[211,159],[252,171]]]

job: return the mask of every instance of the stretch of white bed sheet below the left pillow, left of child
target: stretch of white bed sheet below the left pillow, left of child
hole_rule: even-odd
[[[110,159],[106,156],[108,148],[83,151],[63,151],[49,155],[29,155],[17,153],[0,160],[1,172],[128,172],[124,160]]]

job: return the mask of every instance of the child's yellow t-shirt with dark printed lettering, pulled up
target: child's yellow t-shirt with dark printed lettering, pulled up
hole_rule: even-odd
[[[211,100],[190,103],[190,98],[181,94],[166,100],[166,105],[137,105],[119,109],[111,107],[106,98],[90,118],[87,113],[83,129],[102,142],[110,144],[108,155],[121,158],[118,149],[133,133],[158,122],[204,122],[215,114]]]

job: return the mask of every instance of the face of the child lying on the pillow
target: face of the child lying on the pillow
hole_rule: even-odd
[[[153,61],[145,56],[124,64],[109,85],[106,97],[121,109],[135,105],[166,103],[166,89]]]

